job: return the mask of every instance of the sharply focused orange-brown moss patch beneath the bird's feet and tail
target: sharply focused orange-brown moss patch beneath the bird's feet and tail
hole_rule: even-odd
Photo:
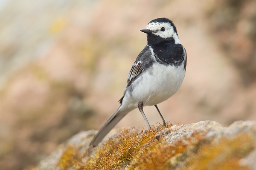
[[[168,125],[170,127],[170,125]],[[142,152],[141,148],[157,141],[159,132],[168,127],[159,126],[151,130],[138,128],[125,129],[118,136],[109,139],[102,147],[97,147],[93,156],[87,161],[83,170],[121,169],[130,163],[134,156]]]

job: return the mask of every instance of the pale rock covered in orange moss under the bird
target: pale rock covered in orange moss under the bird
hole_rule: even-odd
[[[99,146],[89,148],[94,133],[73,136],[34,170],[256,170],[255,121],[237,121],[228,127],[201,121],[160,125],[150,131],[112,130]]]

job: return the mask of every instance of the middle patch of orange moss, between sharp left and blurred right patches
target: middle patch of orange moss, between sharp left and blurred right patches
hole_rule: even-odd
[[[128,167],[128,170],[166,170],[174,168],[177,162],[171,161],[174,156],[179,157],[179,159],[185,159],[186,154],[183,155],[183,152],[187,147],[197,143],[203,138],[202,134],[198,132],[192,133],[188,138],[177,140],[175,143],[169,144],[163,138],[160,141],[154,141],[149,144],[148,147],[142,148],[142,153],[137,155],[137,161],[133,161],[131,167]],[[184,158],[185,157],[185,158]]]

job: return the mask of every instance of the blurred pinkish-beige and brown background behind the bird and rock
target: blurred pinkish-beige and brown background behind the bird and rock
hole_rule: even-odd
[[[140,32],[168,17],[187,51],[164,118],[256,120],[256,0],[0,0],[0,169],[35,166],[119,107]],[[151,125],[162,122],[145,107]],[[138,110],[116,127],[144,126]]]

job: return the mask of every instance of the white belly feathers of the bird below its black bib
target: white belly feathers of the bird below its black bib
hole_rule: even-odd
[[[179,67],[155,62],[134,84],[131,98],[145,105],[156,105],[169,99],[180,88],[185,76],[184,64]]]

